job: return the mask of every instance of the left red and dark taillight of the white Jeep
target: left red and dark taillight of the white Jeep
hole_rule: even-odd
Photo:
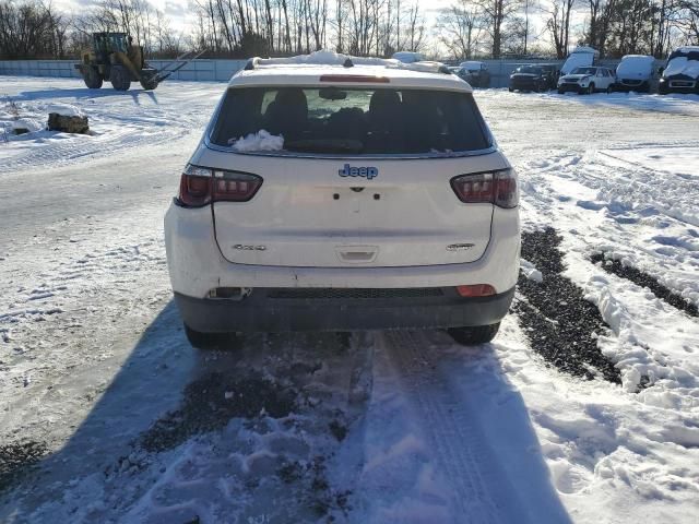
[[[262,186],[257,175],[188,165],[179,184],[179,201],[191,207],[212,202],[247,202]]]

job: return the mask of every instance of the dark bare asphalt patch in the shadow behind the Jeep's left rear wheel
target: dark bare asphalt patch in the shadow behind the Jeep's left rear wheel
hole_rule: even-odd
[[[261,377],[209,373],[190,383],[180,407],[155,421],[139,443],[145,451],[162,452],[196,434],[218,430],[232,418],[282,418],[295,406],[296,391]]]

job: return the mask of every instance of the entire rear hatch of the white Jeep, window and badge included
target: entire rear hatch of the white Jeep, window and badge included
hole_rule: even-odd
[[[248,202],[213,204],[230,262],[433,265],[488,245],[493,205],[462,203],[450,181],[508,167],[466,156],[490,145],[469,93],[245,87],[229,90],[198,162],[263,180]]]

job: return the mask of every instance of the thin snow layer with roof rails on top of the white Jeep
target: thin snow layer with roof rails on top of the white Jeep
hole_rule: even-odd
[[[313,51],[310,55],[298,55],[288,58],[260,58],[253,57],[245,66],[245,71],[252,71],[262,67],[274,66],[342,66],[353,68],[355,66],[382,66],[384,68],[419,71],[423,73],[452,74],[447,66],[441,62],[420,61],[404,63],[394,58],[352,57],[333,51]]]

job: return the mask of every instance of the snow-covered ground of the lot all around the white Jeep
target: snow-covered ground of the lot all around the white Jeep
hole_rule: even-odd
[[[192,350],[162,217],[223,88],[0,78],[0,126],[9,99],[38,122],[0,141],[0,522],[699,522],[699,320],[605,271],[699,306],[698,96],[476,94],[525,230],[556,228],[609,325],[616,384],[547,365],[518,314],[471,349],[371,332]],[[93,134],[42,131],[50,104]]]

